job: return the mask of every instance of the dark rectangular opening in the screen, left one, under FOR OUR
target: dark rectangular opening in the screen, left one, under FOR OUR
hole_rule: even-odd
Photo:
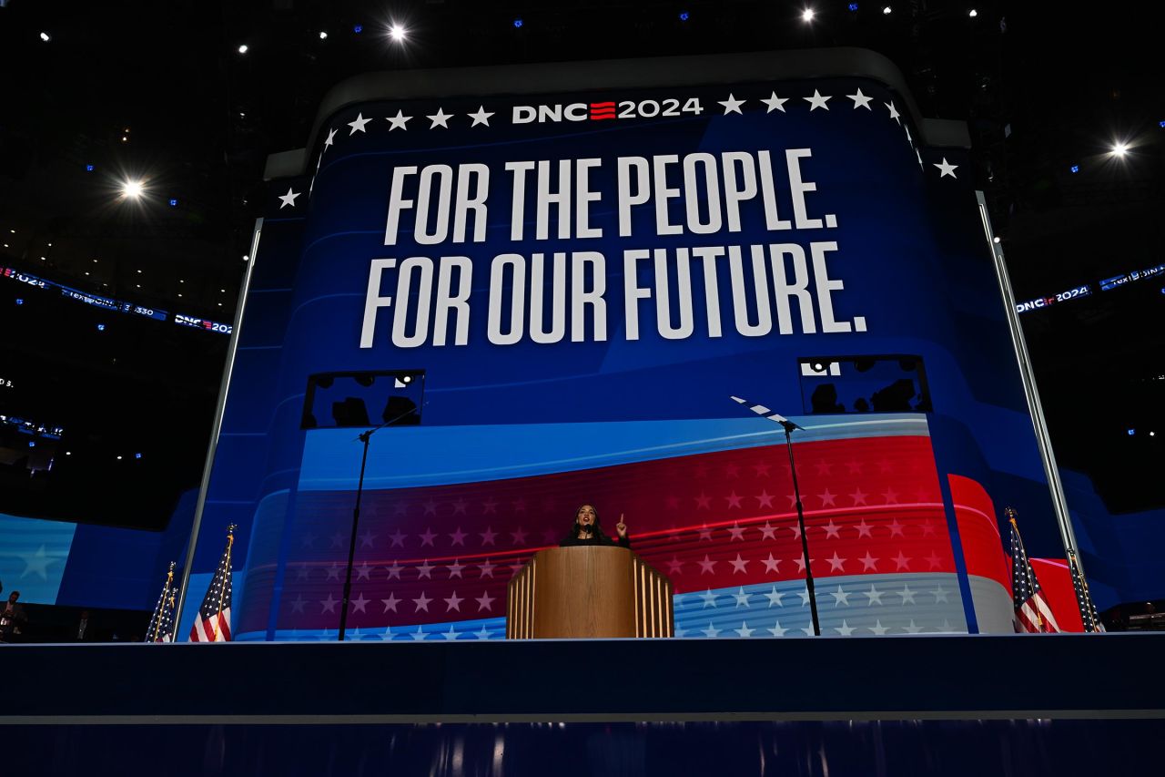
[[[301,427],[417,426],[424,392],[424,370],[318,372],[308,377]]]

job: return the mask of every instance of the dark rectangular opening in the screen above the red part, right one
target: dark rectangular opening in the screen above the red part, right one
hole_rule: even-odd
[[[809,414],[930,413],[931,390],[919,356],[818,356],[797,359]]]

